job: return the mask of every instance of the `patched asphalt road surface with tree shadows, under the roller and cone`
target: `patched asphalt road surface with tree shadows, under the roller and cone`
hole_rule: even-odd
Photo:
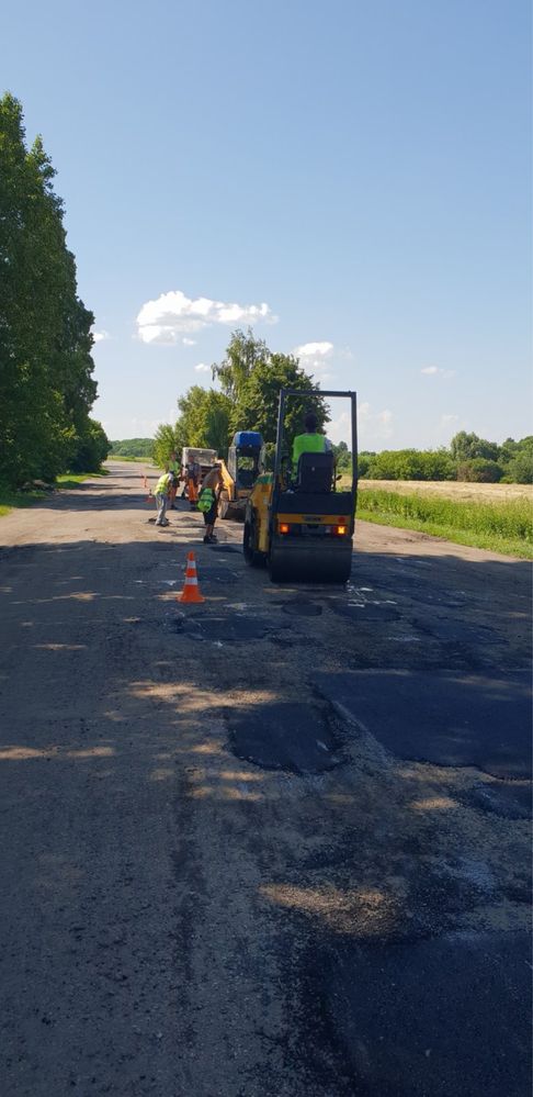
[[[2,1097],[525,1097],[529,566],[274,586],[110,469],[0,523]]]

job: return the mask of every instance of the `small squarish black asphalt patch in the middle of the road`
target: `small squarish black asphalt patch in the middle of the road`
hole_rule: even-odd
[[[228,714],[227,724],[234,753],[265,770],[325,773],[342,761],[331,720],[316,705],[249,706]]]

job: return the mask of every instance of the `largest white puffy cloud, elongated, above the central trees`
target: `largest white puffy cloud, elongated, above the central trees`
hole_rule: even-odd
[[[275,320],[264,302],[259,305],[228,304],[211,298],[192,299],[182,290],[171,290],[161,293],[156,301],[145,302],[137,316],[137,329],[143,343],[172,344],[184,332],[200,332],[209,324],[274,323]]]

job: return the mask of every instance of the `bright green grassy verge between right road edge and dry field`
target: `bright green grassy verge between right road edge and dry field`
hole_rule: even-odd
[[[457,502],[364,489],[359,494],[358,517],[444,537],[457,545],[533,559],[533,507],[528,500]]]

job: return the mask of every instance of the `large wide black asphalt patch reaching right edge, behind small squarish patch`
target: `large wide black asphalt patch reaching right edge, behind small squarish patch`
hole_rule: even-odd
[[[362,670],[317,674],[315,684],[399,758],[531,777],[529,672]]]

